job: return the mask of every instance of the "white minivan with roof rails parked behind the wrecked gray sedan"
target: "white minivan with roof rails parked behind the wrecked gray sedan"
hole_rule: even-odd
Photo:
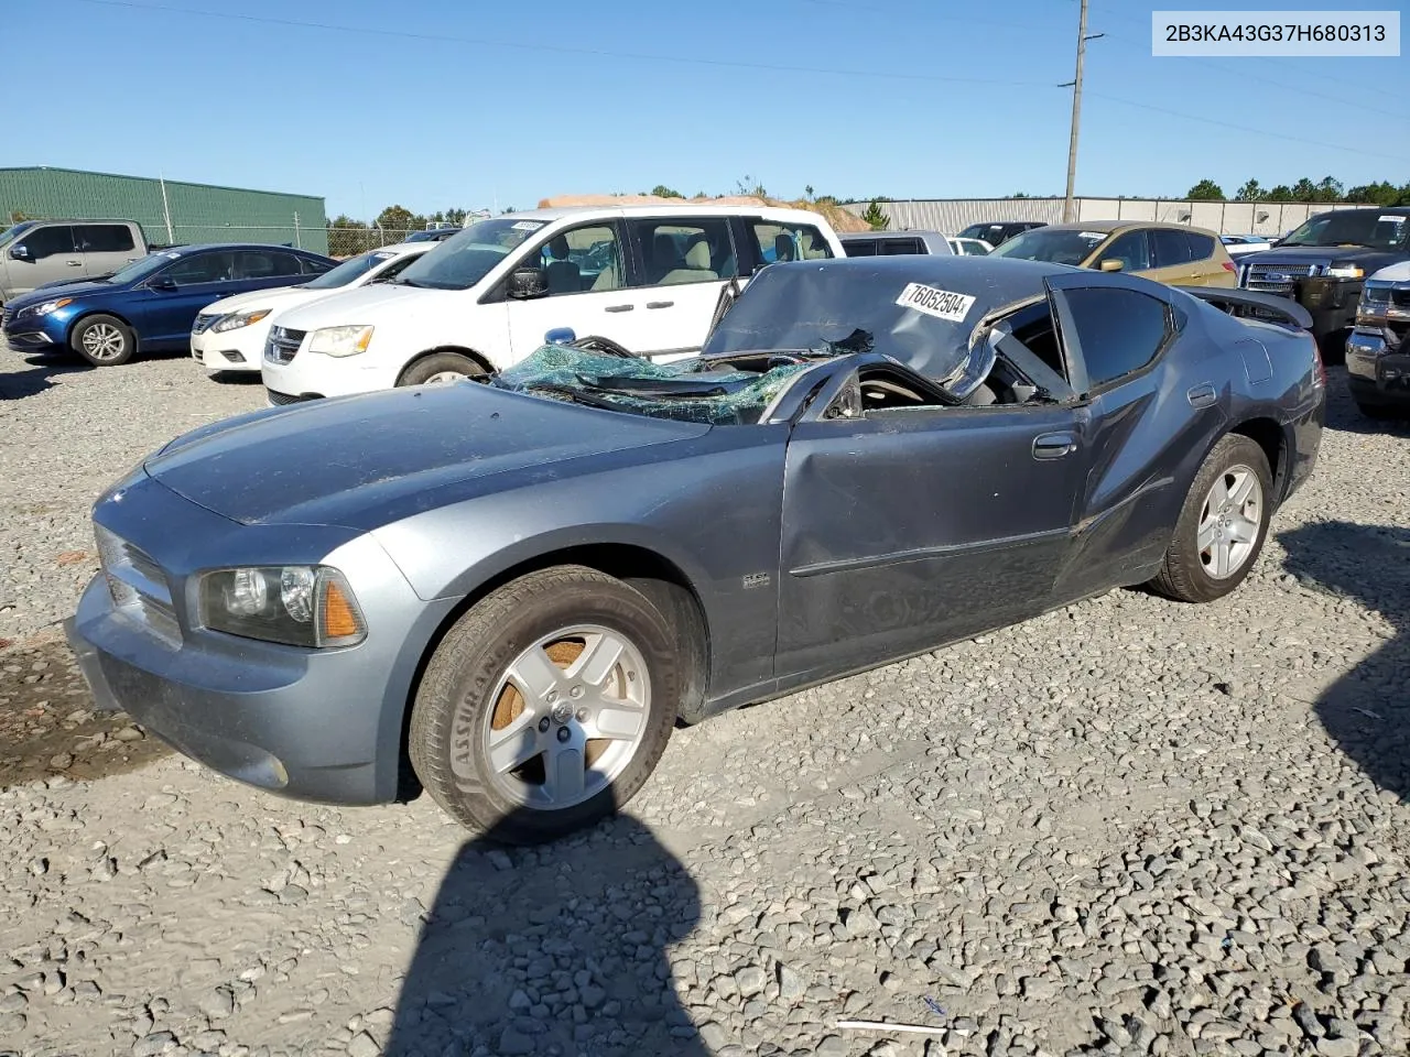
[[[386,283],[281,313],[269,403],[509,366],[554,330],[639,355],[699,348],[721,290],[774,261],[842,256],[816,213],[746,206],[544,209],[481,220]]]

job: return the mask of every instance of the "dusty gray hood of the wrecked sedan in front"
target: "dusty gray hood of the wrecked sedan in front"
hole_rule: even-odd
[[[709,433],[709,426],[602,412],[477,382],[317,400],[178,437],[147,474],[245,524],[376,528],[446,502],[439,489],[519,488],[585,459]],[[477,489],[455,489],[455,499]]]

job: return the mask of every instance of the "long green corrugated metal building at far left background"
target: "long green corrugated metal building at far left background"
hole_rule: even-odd
[[[0,227],[47,218],[135,220],[154,245],[288,242],[329,252],[321,197],[79,169],[0,168]]]

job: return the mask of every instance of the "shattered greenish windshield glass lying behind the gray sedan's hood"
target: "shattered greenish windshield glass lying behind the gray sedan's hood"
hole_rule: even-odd
[[[752,426],[788,381],[811,366],[804,357],[766,357],[740,364],[682,359],[653,364],[571,345],[544,345],[501,371],[501,389],[651,419]]]

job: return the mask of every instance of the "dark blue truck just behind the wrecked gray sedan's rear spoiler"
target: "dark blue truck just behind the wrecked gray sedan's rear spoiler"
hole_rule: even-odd
[[[1238,285],[1292,297],[1311,313],[1318,340],[1341,338],[1356,321],[1366,276],[1400,261],[1410,261],[1410,207],[1340,209],[1242,258]],[[1335,352],[1342,342],[1323,344]]]

